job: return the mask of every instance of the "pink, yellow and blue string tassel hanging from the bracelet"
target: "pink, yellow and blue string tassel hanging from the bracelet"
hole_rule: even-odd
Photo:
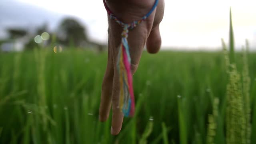
[[[119,108],[122,110],[124,116],[133,116],[135,109],[134,92],[132,87],[132,73],[130,70],[131,58],[127,42],[129,27],[130,25],[128,24],[124,25],[122,32],[122,43],[120,44],[117,63],[120,82]]]

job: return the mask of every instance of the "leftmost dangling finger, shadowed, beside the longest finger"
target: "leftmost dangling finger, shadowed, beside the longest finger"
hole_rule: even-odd
[[[108,45],[108,62],[106,72],[102,82],[101,100],[100,100],[100,121],[108,119],[111,108],[112,86],[113,86],[114,66],[112,50]]]

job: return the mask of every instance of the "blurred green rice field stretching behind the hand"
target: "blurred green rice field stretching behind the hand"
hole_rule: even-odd
[[[223,52],[143,53],[134,75],[136,114],[124,119],[118,136],[110,135],[111,117],[98,120],[106,58],[74,49],[0,53],[0,143],[226,143],[230,76]],[[247,58],[254,144],[256,54]],[[242,74],[242,53],[236,61]]]

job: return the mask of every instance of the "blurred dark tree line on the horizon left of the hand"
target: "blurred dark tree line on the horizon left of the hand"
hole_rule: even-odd
[[[64,18],[58,25],[58,28],[55,30],[55,32],[52,33],[49,32],[47,24],[39,26],[35,32],[33,32],[33,34],[29,33],[24,28],[8,28],[6,31],[8,32],[8,41],[26,39],[26,42],[24,42],[24,50],[32,50],[36,47],[49,46],[51,44],[62,45],[66,48],[93,47],[98,51],[103,51],[105,47],[103,44],[90,41],[87,35],[87,29],[82,26],[78,20],[71,17]],[[43,32],[48,32],[52,38],[43,41],[42,44],[36,43],[34,40],[35,36],[41,35]]]

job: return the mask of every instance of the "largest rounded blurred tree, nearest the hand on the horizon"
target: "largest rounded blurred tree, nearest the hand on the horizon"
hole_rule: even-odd
[[[74,18],[62,20],[57,36],[60,42],[64,44],[73,43],[75,46],[80,46],[83,42],[88,42],[86,29]]]

